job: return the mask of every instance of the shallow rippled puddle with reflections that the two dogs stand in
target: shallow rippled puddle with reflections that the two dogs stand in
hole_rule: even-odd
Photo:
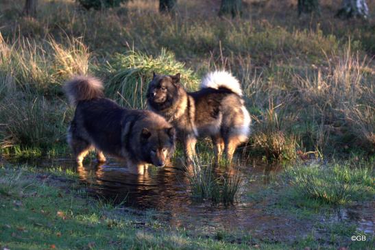
[[[136,210],[155,211],[156,219],[171,227],[180,227],[207,235],[217,232],[249,232],[256,238],[290,241],[311,233],[313,223],[355,222],[361,232],[374,234],[373,209],[352,206],[317,216],[315,221],[280,214],[267,209],[268,203],[246,199],[249,192],[260,192],[281,171],[280,166],[244,162],[239,167],[245,182],[239,202],[229,207],[194,201],[181,167],[150,167],[145,175],[132,175],[114,160],[106,164],[91,162],[76,166],[71,159],[28,160],[28,164],[61,166],[77,171],[93,195]],[[178,165],[178,164],[177,164]],[[222,171],[218,168],[217,171]],[[267,197],[266,197],[267,198]],[[266,199],[265,199],[266,200]],[[319,232],[317,232],[319,234]]]

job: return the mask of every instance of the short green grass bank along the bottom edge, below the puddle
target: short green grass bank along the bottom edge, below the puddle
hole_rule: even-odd
[[[156,211],[135,213],[93,199],[77,174],[62,168],[2,165],[0,184],[0,246],[8,249],[371,249],[374,242],[369,235],[365,242],[350,242],[361,232],[343,222],[316,223],[319,241],[313,233],[292,242],[269,242],[223,230],[206,238],[170,229],[157,221]]]

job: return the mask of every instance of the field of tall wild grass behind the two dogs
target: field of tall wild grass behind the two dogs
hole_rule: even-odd
[[[44,98],[60,115],[62,83],[90,74],[104,79],[108,97],[145,108],[152,71],[180,72],[184,86],[196,90],[207,71],[226,68],[241,81],[256,121],[252,155],[281,160],[295,158],[298,150],[374,153],[374,63],[367,44],[372,19],[331,22],[324,10],[314,21],[295,21],[293,9],[271,0],[249,1],[242,18],[229,20],[204,11],[212,4],[181,1],[178,14],[169,16],[141,0],[100,12],[80,10],[74,1],[40,1],[37,18],[25,18],[19,16],[21,0],[5,1],[0,104],[8,106],[5,97],[21,92],[25,109],[32,107],[30,100]],[[269,8],[282,12],[269,19]],[[3,140],[17,137],[0,126]],[[44,131],[40,135],[49,138],[49,129]],[[35,134],[27,134],[10,145],[30,147]]]

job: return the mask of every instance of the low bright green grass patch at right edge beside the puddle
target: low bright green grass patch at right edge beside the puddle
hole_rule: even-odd
[[[348,163],[297,166],[287,169],[289,184],[306,197],[339,205],[375,195],[373,162],[356,168]]]

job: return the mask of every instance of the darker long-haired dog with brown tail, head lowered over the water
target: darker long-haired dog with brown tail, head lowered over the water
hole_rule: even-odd
[[[77,163],[90,149],[97,160],[105,153],[125,160],[130,172],[142,173],[147,164],[162,167],[173,155],[176,130],[165,118],[149,110],[127,110],[104,97],[104,87],[94,77],[75,77],[64,91],[75,107],[68,143]]]

